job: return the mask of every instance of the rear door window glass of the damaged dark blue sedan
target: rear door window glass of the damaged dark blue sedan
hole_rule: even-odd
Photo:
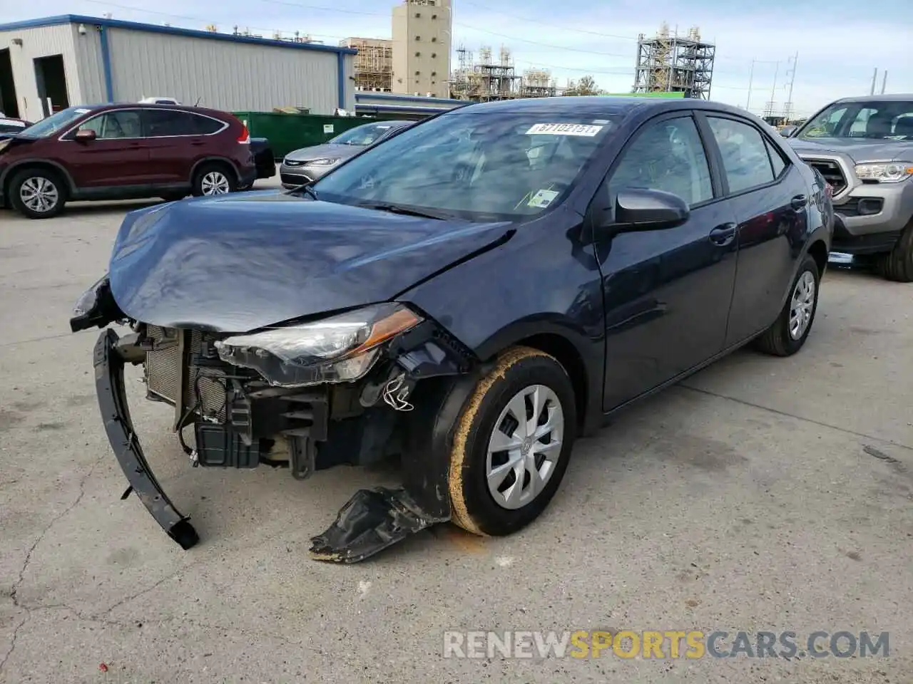
[[[730,193],[773,181],[771,158],[760,130],[734,119],[708,117],[707,120],[723,157]]]

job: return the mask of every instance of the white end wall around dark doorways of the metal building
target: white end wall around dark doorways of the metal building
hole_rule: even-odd
[[[35,78],[36,57],[62,55],[69,103],[72,105],[82,102],[75,36],[76,26],[70,25],[23,28],[0,33],[0,49],[9,48],[19,116],[23,119],[37,121],[44,117],[41,102],[38,100]],[[22,45],[14,45],[14,38],[22,40]]]

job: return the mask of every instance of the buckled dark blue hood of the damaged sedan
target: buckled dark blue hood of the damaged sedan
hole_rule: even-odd
[[[127,215],[110,288],[144,323],[246,332],[393,299],[509,228],[274,191],[171,202]]]

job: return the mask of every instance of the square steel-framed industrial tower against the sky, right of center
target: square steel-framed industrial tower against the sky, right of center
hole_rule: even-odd
[[[637,36],[635,93],[683,92],[686,98],[709,99],[717,48],[700,39],[697,26],[687,36],[669,33],[663,24],[652,38]]]

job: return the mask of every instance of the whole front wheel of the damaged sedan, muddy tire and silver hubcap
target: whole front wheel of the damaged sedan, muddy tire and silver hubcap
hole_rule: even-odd
[[[511,347],[467,400],[450,451],[454,523],[501,536],[535,520],[558,491],[577,426],[571,379],[530,347]]]

